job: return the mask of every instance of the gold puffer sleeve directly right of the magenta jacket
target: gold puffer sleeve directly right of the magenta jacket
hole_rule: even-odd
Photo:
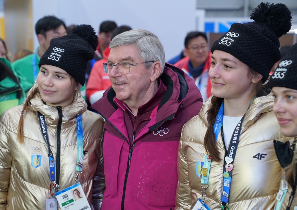
[[[185,127],[185,125],[184,125]],[[184,130],[183,127],[183,130]],[[186,151],[183,149],[183,130],[181,131],[181,138],[178,145],[178,157],[177,157],[177,175],[178,183],[176,188],[175,198],[175,210],[186,210],[190,209],[192,205],[192,199],[190,196],[189,177],[188,177],[188,164],[185,157]]]

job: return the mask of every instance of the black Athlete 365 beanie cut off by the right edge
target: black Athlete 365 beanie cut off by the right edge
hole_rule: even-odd
[[[297,90],[297,43],[287,52],[269,80],[270,88],[286,87]]]

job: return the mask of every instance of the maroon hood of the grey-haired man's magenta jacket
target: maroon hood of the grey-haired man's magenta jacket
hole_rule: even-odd
[[[185,108],[195,101],[202,102],[201,94],[194,80],[181,69],[166,63],[160,80],[167,90],[157,109],[156,124],[150,130],[155,130],[164,121],[172,119],[179,108]],[[118,108],[113,102],[115,96],[116,93],[110,87],[105,91],[103,97],[92,105],[92,108],[108,119]]]

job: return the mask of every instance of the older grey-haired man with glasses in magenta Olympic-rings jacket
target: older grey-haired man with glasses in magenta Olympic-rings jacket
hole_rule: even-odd
[[[201,94],[165,64],[161,42],[146,30],[116,36],[103,65],[111,87],[92,105],[105,119],[101,210],[174,209],[181,129],[199,113]]]

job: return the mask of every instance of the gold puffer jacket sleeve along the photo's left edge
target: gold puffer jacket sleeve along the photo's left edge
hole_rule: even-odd
[[[7,111],[0,116],[0,210],[6,209],[12,156],[9,149],[10,117]]]

